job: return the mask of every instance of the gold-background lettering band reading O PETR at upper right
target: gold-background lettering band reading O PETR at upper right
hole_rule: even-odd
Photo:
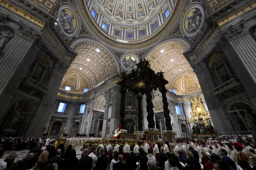
[[[239,15],[242,15],[243,13],[251,10],[252,8],[255,8],[256,7],[256,1],[254,1],[253,3],[245,6],[245,7],[242,7],[240,9],[238,9],[237,11],[235,12],[232,12],[230,15],[220,19],[217,21],[217,23],[219,24],[219,26],[223,26],[224,24],[226,24],[227,22],[233,20],[234,18],[236,18],[237,16]]]

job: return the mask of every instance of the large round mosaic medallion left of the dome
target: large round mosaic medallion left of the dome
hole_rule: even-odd
[[[59,27],[65,35],[72,37],[78,32],[79,23],[74,8],[69,5],[61,6],[57,18]]]

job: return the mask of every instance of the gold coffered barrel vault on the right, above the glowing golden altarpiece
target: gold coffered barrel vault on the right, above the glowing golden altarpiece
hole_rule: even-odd
[[[166,88],[172,90],[173,86],[175,86],[178,94],[193,94],[200,91],[197,77],[182,54],[186,50],[188,49],[183,43],[170,41],[157,46],[147,57],[151,63],[151,69],[155,72],[160,72],[161,70],[165,72],[163,75],[169,81]],[[196,85],[196,87],[193,86],[192,88],[190,85]]]

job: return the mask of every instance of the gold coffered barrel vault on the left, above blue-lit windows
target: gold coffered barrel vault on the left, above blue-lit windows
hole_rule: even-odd
[[[71,92],[83,93],[117,73],[119,66],[112,55],[94,42],[80,42],[74,50],[78,55],[61,82],[61,90],[71,86]]]

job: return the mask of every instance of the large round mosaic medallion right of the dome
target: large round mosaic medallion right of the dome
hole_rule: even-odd
[[[190,5],[184,14],[182,19],[182,31],[188,37],[195,36],[203,26],[204,10],[199,4]]]

